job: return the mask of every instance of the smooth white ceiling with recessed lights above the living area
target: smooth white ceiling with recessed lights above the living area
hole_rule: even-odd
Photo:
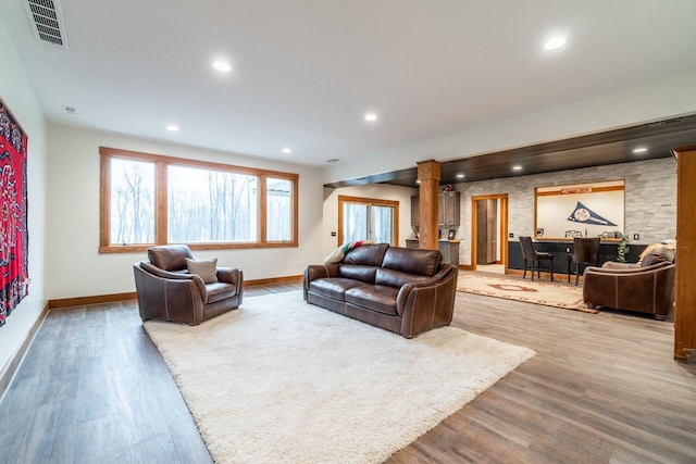
[[[62,0],[69,48],[23,2],[50,122],[318,166],[696,68],[694,0]]]

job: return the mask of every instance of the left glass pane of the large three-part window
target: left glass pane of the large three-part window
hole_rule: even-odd
[[[111,243],[154,243],[154,163],[111,160]]]

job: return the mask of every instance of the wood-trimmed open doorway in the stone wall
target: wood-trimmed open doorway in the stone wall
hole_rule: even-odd
[[[471,198],[471,267],[507,273],[508,195]]]

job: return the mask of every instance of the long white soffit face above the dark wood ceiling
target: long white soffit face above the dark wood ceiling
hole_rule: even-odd
[[[462,109],[465,111],[465,109]],[[324,167],[323,184],[545,141],[595,134],[696,112],[696,70],[544,109]]]

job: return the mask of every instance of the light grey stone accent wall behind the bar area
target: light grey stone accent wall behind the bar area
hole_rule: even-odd
[[[676,161],[673,158],[636,161],[608,166],[585,167],[549,174],[520,175],[502,179],[457,184],[461,192],[461,226],[457,231],[461,244],[459,263],[471,265],[472,197],[508,195],[508,233],[534,236],[534,189],[602,180],[625,181],[625,234],[635,243],[654,243],[676,235]],[[696,181],[696,180],[695,180]]]

